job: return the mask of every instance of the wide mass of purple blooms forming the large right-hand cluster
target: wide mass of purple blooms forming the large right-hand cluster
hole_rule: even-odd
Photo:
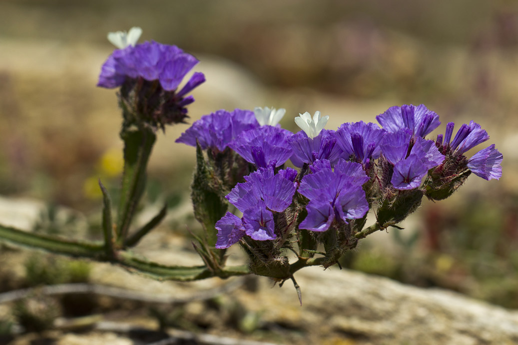
[[[198,140],[202,149],[229,147],[257,168],[226,196],[243,215],[239,218],[227,212],[217,222],[217,248],[228,248],[246,235],[260,241],[278,238],[281,230],[274,214],[292,205],[295,192],[309,199],[298,206],[307,211],[298,228],[325,232],[365,217],[370,207],[365,191],[371,193],[370,203],[392,205],[392,198],[401,194],[394,189],[424,193],[432,183],[425,180],[422,186],[424,177],[436,174],[444,165],[457,164],[456,174],[470,169],[485,179],[501,176],[502,155],[494,145],[469,161],[457,159],[488,139],[477,123],[461,126],[451,142],[453,123],[447,125],[444,140],[442,135],[436,141],[425,139],[440,122],[424,105],[389,108],[377,117],[383,128],[360,121],[344,123],[337,131],[325,130],[327,118],[320,112],[313,118],[309,113],[300,114],[297,124],[303,131],[292,134],[266,121],[260,125],[252,111],[220,110],[203,116],[177,139],[191,146]],[[291,168],[275,173],[289,159],[297,167],[309,167],[298,180]]]

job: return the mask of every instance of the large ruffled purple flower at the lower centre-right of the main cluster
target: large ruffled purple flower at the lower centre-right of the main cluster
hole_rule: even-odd
[[[340,159],[331,169],[326,160],[315,161],[313,174],[305,175],[298,192],[310,201],[299,228],[326,231],[333,221],[362,218],[369,210],[362,184],[369,180],[361,164]]]

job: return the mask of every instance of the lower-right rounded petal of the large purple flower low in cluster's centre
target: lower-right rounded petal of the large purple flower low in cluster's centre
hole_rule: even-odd
[[[359,185],[346,185],[336,198],[335,209],[346,223],[348,219],[362,218],[369,211],[365,191]]]

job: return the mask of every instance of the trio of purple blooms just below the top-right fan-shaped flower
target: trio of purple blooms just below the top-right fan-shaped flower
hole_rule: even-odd
[[[444,161],[433,140],[420,136],[412,140],[408,128],[387,133],[380,147],[386,160],[394,165],[391,183],[398,190],[419,188],[428,170]]]

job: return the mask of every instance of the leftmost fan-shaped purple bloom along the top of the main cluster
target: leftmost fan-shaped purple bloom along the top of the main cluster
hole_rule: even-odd
[[[239,134],[258,126],[254,113],[250,110],[218,110],[195,121],[176,142],[195,147],[198,139],[200,147],[204,150],[216,148],[223,151]]]

